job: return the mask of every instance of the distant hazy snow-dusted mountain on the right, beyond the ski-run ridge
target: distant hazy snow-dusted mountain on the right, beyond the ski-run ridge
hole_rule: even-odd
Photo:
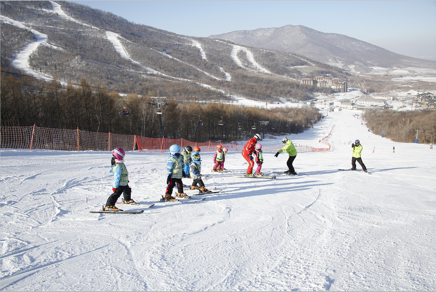
[[[367,73],[371,67],[436,68],[436,61],[408,57],[343,34],[316,31],[303,25],[258,28],[211,35],[240,45],[296,53],[339,68]]]

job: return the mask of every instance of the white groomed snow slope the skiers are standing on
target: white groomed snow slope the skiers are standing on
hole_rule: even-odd
[[[299,176],[234,177],[247,167],[239,152],[228,152],[228,172],[211,173],[213,153],[202,153],[206,187],[222,192],[140,215],[89,213],[112,192],[110,152],[1,151],[0,288],[433,291],[436,149],[374,135],[353,113],[287,135],[316,146],[336,124],[332,151],[298,153]],[[262,172],[286,170],[286,153],[274,157],[281,139],[261,141]],[[338,170],[351,167],[355,139],[371,175]],[[159,200],[166,159],[127,152],[132,198],[143,205],[117,206]]]

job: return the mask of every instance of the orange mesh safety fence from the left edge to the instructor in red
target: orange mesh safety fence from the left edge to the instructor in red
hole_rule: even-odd
[[[183,149],[186,146],[199,147],[202,152],[213,152],[216,145],[227,147],[228,151],[239,151],[236,143],[191,142],[186,139],[148,138],[137,135],[120,135],[77,130],[63,130],[36,127],[0,127],[0,148],[2,149],[46,149],[63,151],[125,151],[168,152],[173,144]]]

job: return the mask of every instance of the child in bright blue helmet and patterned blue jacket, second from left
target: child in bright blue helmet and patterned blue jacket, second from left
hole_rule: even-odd
[[[179,145],[170,146],[170,157],[167,162],[167,191],[165,192],[164,201],[174,201],[172,195],[173,188],[177,184],[177,197],[179,198],[191,198],[183,192],[182,176],[185,176],[185,171],[182,163],[182,156],[180,155],[181,147]]]

